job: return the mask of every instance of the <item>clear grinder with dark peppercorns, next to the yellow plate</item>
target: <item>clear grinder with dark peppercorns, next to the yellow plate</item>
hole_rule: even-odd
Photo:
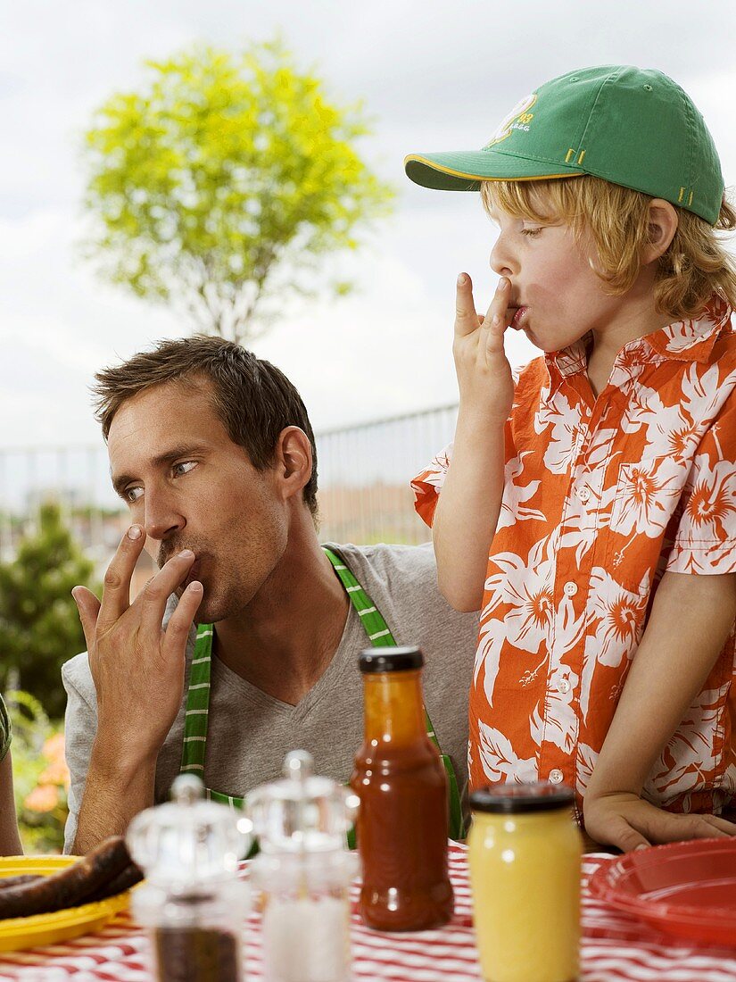
[[[250,843],[247,819],[202,800],[191,774],[172,786],[173,800],[131,822],[126,842],[145,882],[132,912],[146,928],[158,982],[241,982],[240,935],[247,888],[237,860]]]

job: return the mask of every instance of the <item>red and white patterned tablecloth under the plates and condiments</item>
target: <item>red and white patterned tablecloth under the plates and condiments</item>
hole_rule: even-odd
[[[592,900],[585,884],[610,856],[583,862],[583,982],[736,982],[736,948],[679,942]],[[452,844],[455,913],[447,927],[419,934],[369,931],[352,918],[353,978],[371,982],[477,982],[481,978],[470,908],[465,847]],[[263,978],[260,917],[245,927],[246,978]],[[103,931],[48,948],[0,955],[0,979],[24,982],[150,982],[142,932],[129,914]],[[530,980],[534,982],[534,980]]]

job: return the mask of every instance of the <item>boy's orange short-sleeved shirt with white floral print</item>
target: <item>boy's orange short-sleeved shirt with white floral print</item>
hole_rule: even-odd
[[[736,335],[698,320],[626,345],[594,399],[586,339],[519,374],[470,693],[470,787],[549,779],[582,805],[662,573],[736,572]],[[451,446],[412,481],[432,524]],[[736,791],[734,632],[644,796]],[[653,700],[657,693],[652,693]]]

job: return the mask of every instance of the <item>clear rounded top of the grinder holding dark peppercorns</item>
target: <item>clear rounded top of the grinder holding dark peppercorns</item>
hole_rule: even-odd
[[[131,821],[126,843],[146,879],[175,890],[237,875],[250,845],[249,823],[224,804],[203,799],[193,774],[180,774],[172,799]]]

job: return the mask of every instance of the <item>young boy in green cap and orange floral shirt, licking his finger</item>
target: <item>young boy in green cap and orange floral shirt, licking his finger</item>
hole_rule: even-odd
[[[703,118],[584,69],[406,173],[499,224],[485,317],[457,281],[451,465],[412,482],[442,591],[481,608],[471,789],[566,782],[624,850],[734,835],[736,215]],[[544,352],[518,378],[509,327]]]

